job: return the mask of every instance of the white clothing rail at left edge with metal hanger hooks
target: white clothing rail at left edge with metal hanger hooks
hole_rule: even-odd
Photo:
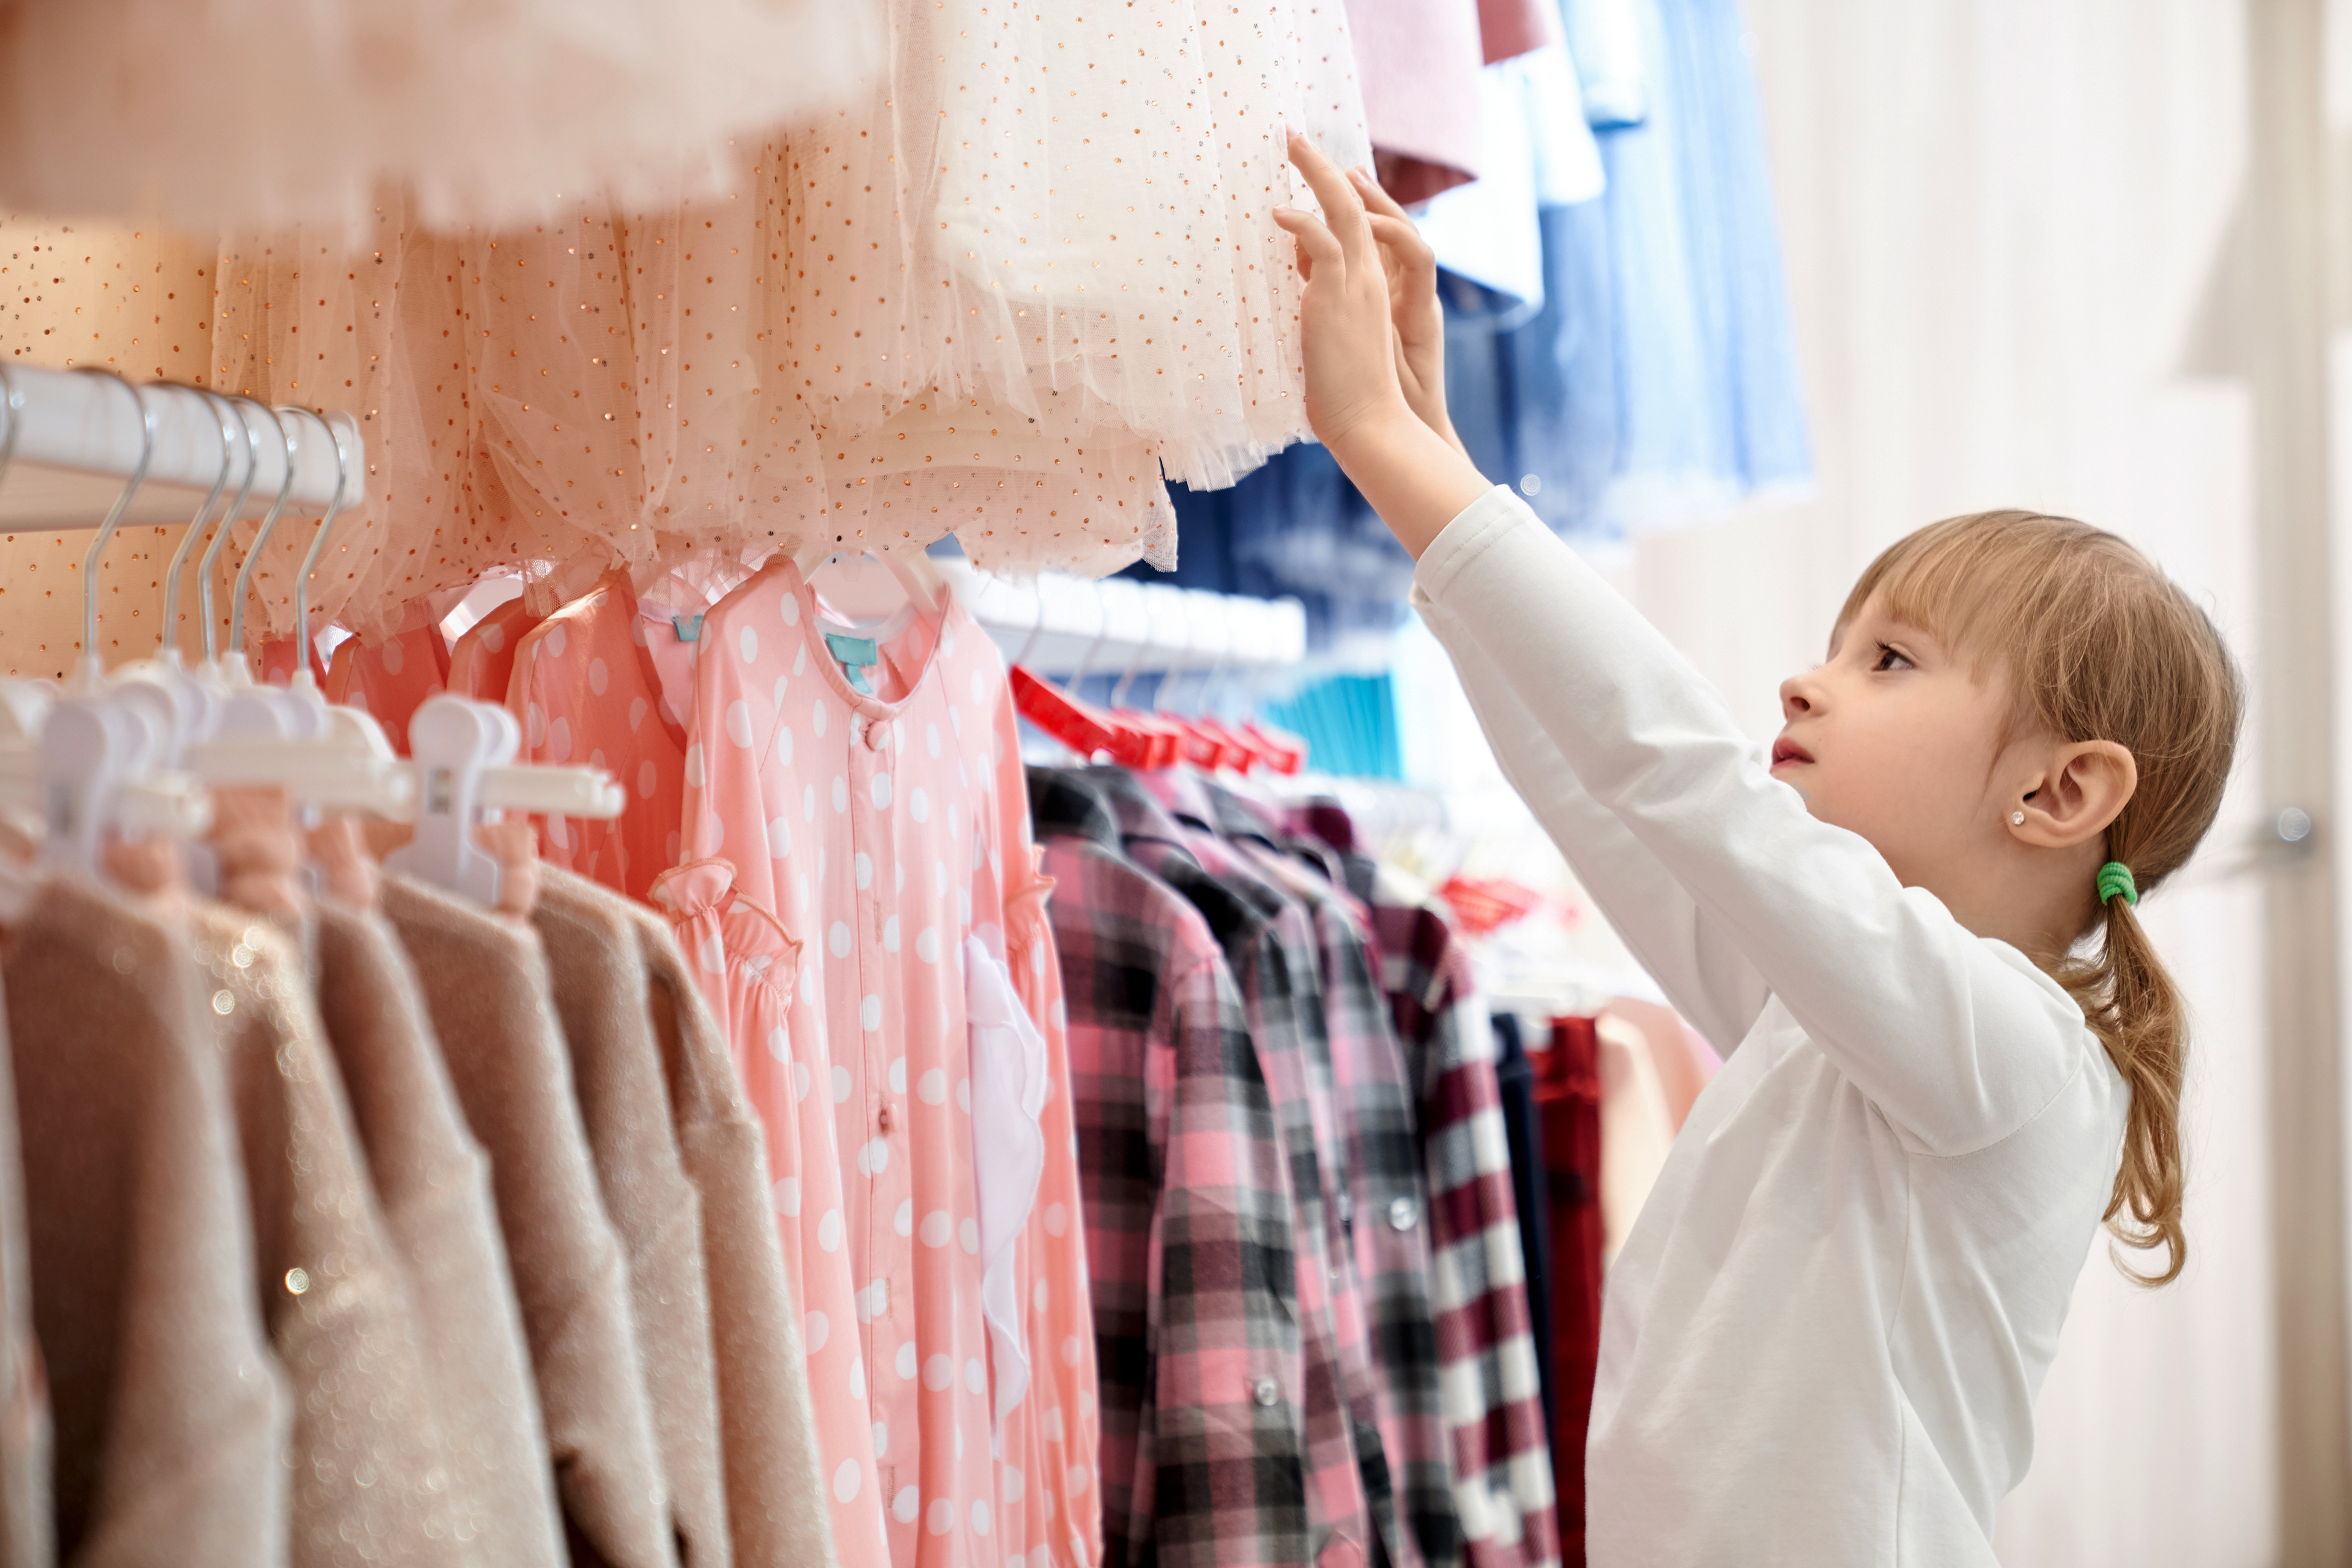
[[[122,494],[122,482],[139,470],[146,447],[143,416],[153,416],[155,444],[146,482],[122,512],[127,524],[188,522],[223,465],[230,489],[245,487],[252,465],[252,487],[245,491],[240,517],[263,517],[287,480],[289,447],[294,484],[287,505],[294,515],[315,517],[334,498],[334,444],[308,421],[287,421],[282,435],[270,411],[252,400],[162,381],[134,386],[111,371],[5,364],[0,367],[0,475],[5,475],[0,529],[99,527]],[[358,510],[365,501],[367,463],[353,461],[343,510]]]

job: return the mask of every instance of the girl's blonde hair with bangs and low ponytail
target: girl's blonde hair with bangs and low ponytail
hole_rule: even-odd
[[[2072,517],[1971,512],[1898,541],[1863,571],[1844,628],[1863,604],[1950,642],[1980,677],[2013,686],[2013,724],[2060,741],[2114,741],[2140,783],[2107,827],[2107,858],[2152,893],[2204,839],[2237,752],[2244,682],[2213,621],[2114,534]],[[2084,884],[2077,943],[2032,954],[2082,1004],[2084,1020],[2131,1086],[2124,1164],[2103,1215],[2129,1248],[2166,1248],[2161,1286],[2187,1262],[2180,1229],[2180,1079],[2187,1020],[2180,992],[2124,898]],[[2098,943],[2086,945],[2098,931]],[[2122,1260],[2117,1260],[2122,1267]]]

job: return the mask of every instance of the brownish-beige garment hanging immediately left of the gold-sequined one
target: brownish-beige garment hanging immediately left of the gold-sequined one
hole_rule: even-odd
[[[169,922],[59,877],[0,947],[54,1540],[61,1561],[278,1566],[294,1408],[209,987]]]

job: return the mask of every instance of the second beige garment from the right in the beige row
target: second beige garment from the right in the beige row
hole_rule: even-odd
[[[621,1255],[680,1568],[734,1561],[701,1199],[687,1182],[637,933],[593,884],[539,872],[532,929],[572,1056],[572,1086]]]

